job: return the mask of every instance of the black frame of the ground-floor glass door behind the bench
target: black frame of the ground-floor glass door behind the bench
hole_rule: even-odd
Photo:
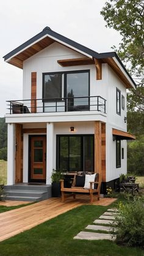
[[[93,137],[93,172],[94,172],[94,164],[95,164],[95,139],[94,134],[57,134],[56,136],[56,168],[59,169],[60,167],[60,143],[59,143],[59,137],[81,137],[81,168],[82,172],[84,171],[84,137],[91,136]],[[68,152],[70,154],[70,150]],[[70,161],[70,160],[69,160]],[[70,172],[70,163],[68,163],[68,172]]]

